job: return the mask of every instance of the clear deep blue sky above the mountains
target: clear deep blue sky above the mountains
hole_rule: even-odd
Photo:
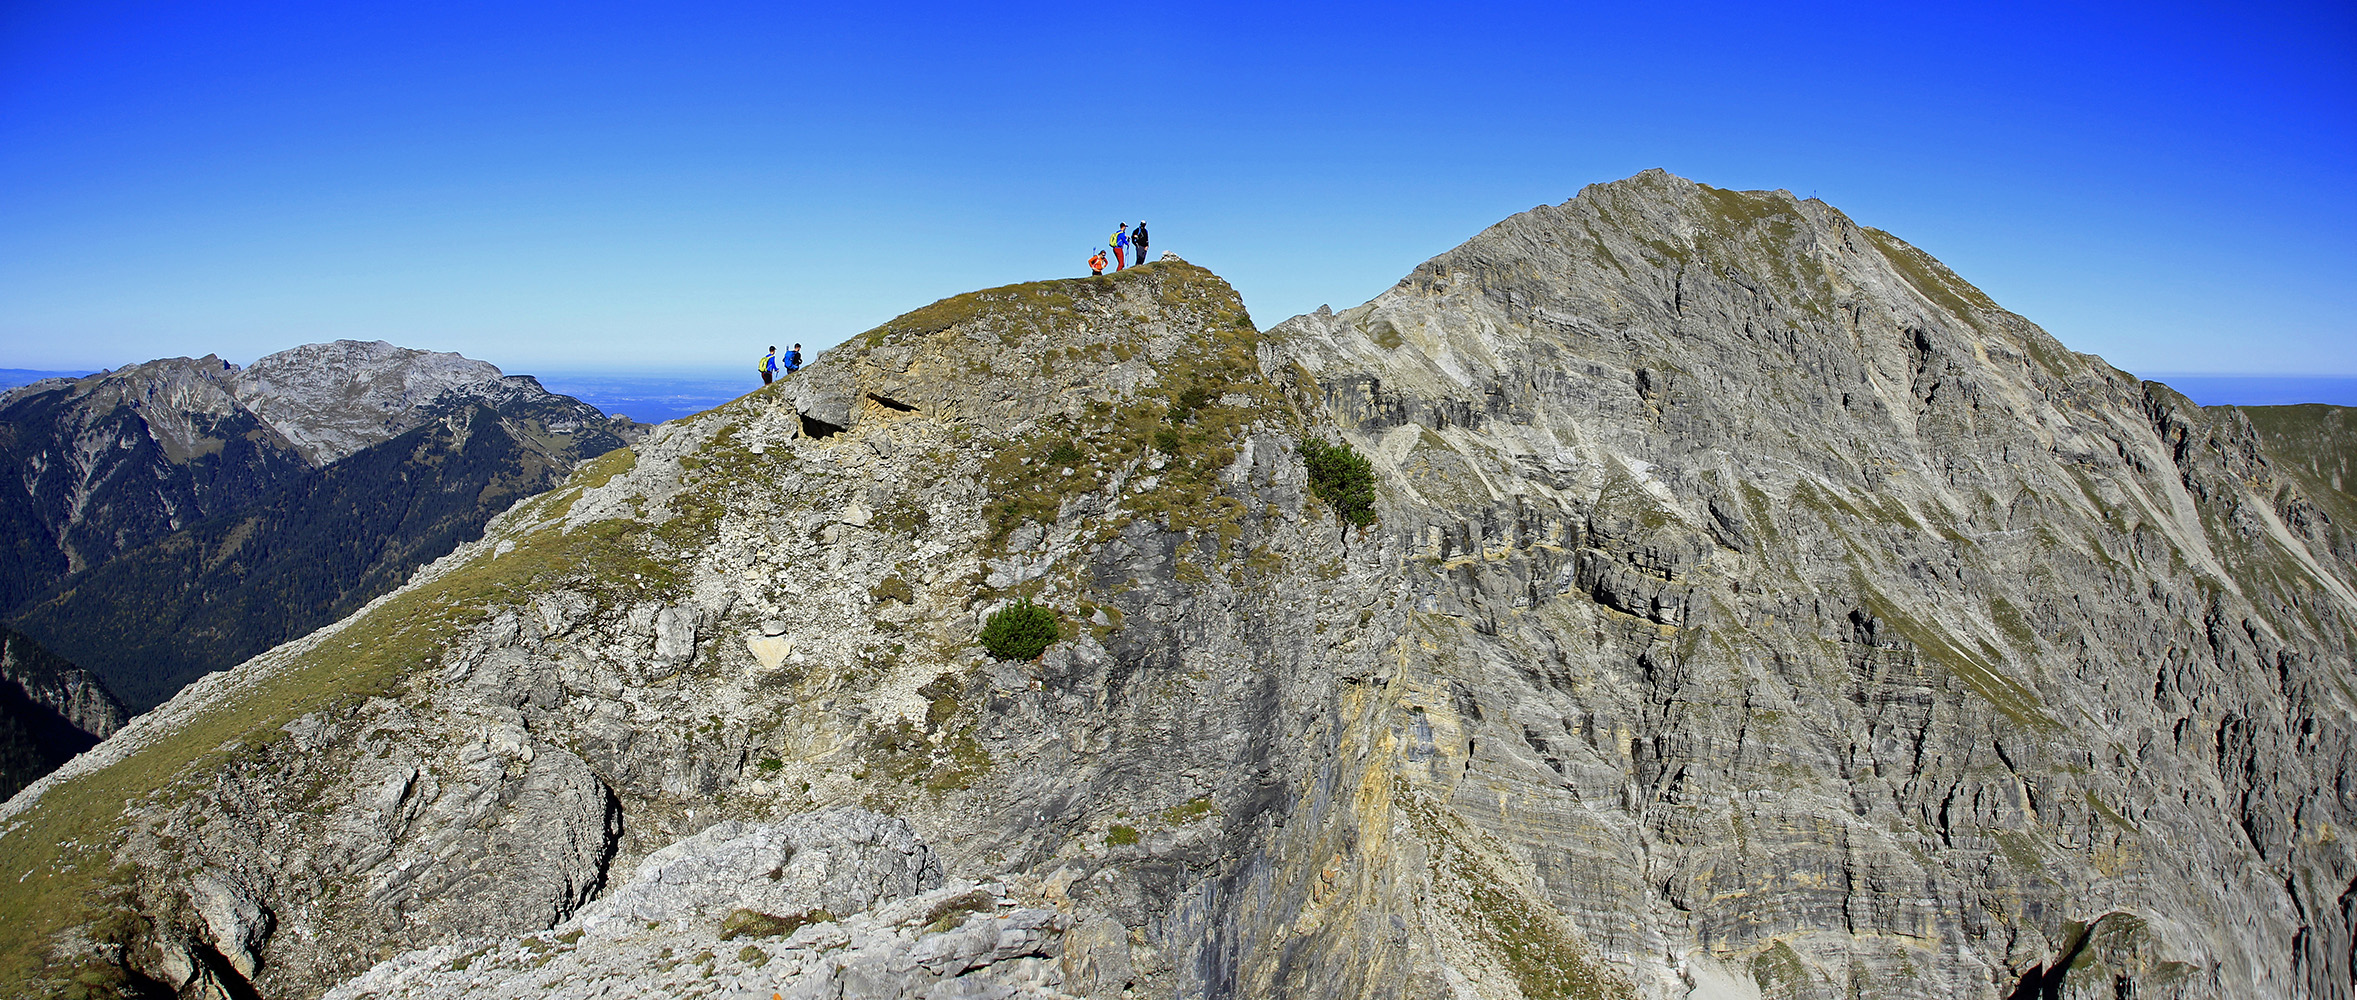
[[[735,366],[1138,217],[1268,325],[1666,167],[2128,370],[2357,375],[2352,163],[2348,2],[12,0],[0,366]]]

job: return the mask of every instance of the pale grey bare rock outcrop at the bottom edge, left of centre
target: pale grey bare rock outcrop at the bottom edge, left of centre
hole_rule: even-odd
[[[549,932],[412,950],[328,998],[1051,1000],[1063,929],[1006,884],[940,884],[907,823],[827,809],[717,823]]]

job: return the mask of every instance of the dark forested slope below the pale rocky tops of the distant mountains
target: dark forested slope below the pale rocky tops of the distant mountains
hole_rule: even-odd
[[[146,710],[398,587],[493,514],[620,446],[618,434],[556,436],[528,413],[462,406],[75,573],[14,623]]]

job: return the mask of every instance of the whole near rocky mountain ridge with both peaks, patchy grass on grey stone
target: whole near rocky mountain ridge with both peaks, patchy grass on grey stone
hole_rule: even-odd
[[[2345,998],[2348,462],[1664,172],[1268,330],[1169,257],[969,292],[9,800],[0,972]]]

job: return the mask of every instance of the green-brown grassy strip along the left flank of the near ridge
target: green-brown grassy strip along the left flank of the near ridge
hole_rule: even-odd
[[[627,448],[610,450],[509,517],[561,517],[582,488],[629,462]],[[629,578],[643,568],[629,531],[568,535],[542,526],[523,538],[537,545],[521,557],[471,564],[457,557],[460,566],[200,684],[9,800],[0,811],[0,870],[9,880],[9,892],[0,894],[0,983],[31,995],[153,988],[125,960],[125,948],[151,934],[158,915],[132,894],[139,873],[115,854],[132,833],[132,804],[170,809],[238,759],[285,741],[290,719],[401,693],[436,663],[455,630],[521,590],[552,578]]]

